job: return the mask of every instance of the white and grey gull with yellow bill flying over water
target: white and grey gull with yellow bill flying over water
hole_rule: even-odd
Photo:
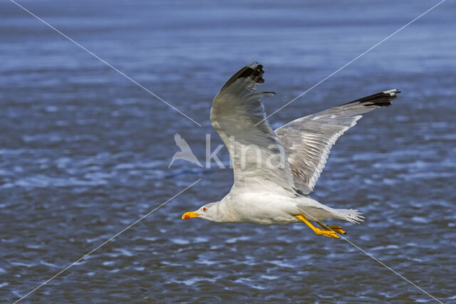
[[[400,91],[385,90],[272,130],[261,100],[275,93],[255,93],[264,83],[263,73],[259,63],[245,66],[212,101],[212,127],[229,151],[234,184],[223,199],[186,212],[182,219],[266,225],[304,222],[319,236],[340,239],[339,234],[345,234],[341,226],[327,226],[323,220],[359,224],[364,219],[361,212],[333,209],[309,194],[338,137],[366,112],[391,105]]]

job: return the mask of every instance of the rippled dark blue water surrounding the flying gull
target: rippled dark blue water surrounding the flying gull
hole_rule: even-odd
[[[432,299],[343,240],[302,224],[182,221],[232,172],[204,162],[212,98],[265,66],[272,112],[437,1],[21,1],[202,124],[170,109],[10,1],[0,4],[0,302],[369,302]],[[446,1],[271,117],[274,127],[400,88],[341,137],[313,194],[356,207],[347,238],[455,302],[456,6]],[[219,152],[224,164],[227,151]]]

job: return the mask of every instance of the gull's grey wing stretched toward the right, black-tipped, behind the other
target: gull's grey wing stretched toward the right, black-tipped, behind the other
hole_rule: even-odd
[[[356,125],[361,114],[391,105],[396,93],[400,91],[387,90],[279,127],[275,132],[284,146],[296,188],[311,193],[338,137]]]

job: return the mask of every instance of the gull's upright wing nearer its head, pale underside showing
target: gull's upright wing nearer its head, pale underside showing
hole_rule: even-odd
[[[212,127],[227,146],[234,170],[234,186],[275,184],[294,191],[293,176],[284,148],[269,122],[261,98],[274,92],[254,93],[263,83],[263,66],[252,63],[239,70],[212,101]],[[258,125],[257,125],[258,124]]]

